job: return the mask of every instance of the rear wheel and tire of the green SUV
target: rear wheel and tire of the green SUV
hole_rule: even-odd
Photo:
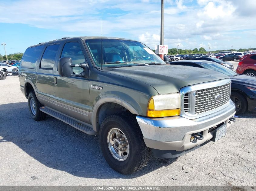
[[[28,95],[28,108],[32,118],[35,121],[41,121],[46,118],[46,113],[40,111],[43,105],[38,101],[35,92],[31,91]]]

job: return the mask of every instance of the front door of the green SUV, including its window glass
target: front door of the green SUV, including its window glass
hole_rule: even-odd
[[[85,55],[79,42],[67,42],[63,46],[62,57],[71,57],[73,64],[85,62]],[[58,68],[58,67],[57,67]],[[88,78],[62,77],[56,68],[54,79],[55,105],[61,113],[89,123],[90,94]],[[79,74],[81,67],[73,67],[73,73]]]

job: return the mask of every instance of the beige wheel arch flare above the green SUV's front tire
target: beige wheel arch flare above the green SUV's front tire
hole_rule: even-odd
[[[100,100],[97,101],[97,103],[94,106],[93,112],[89,116],[90,121],[92,122],[93,130],[96,131],[96,132],[99,132],[99,130],[100,130],[100,125],[98,123],[99,108],[104,103],[108,103],[108,102],[117,103],[117,104],[125,107],[132,114],[139,115],[139,113],[134,109],[134,107],[132,107],[128,102],[126,102],[125,100],[120,99],[119,97],[115,97],[115,96],[102,97]]]

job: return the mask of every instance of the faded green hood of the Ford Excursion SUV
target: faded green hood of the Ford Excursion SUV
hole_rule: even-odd
[[[220,72],[180,65],[120,67],[106,72],[144,82],[159,94],[176,93],[185,86],[228,78]]]

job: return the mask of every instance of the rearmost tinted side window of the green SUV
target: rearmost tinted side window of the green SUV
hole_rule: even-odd
[[[43,48],[44,45],[28,48],[22,58],[21,68],[35,68]]]

